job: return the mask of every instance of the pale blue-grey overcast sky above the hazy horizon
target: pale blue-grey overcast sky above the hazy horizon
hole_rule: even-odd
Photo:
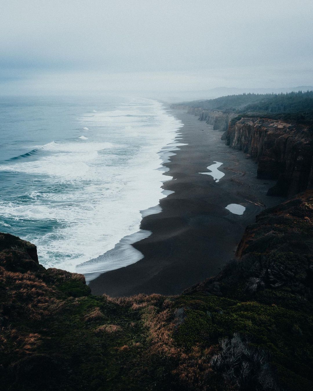
[[[313,84],[312,0],[2,0],[3,93]]]

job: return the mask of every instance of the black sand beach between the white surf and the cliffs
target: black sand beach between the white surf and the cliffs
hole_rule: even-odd
[[[133,246],[144,258],[135,264],[101,274],[89,284],[93,294],[130,296],[138,293],[178,294],[216,275],[234,257],[245,227],[265,207],[282,201],[266,195],[274,181],[256,178],[257,165],[242,151],[221,141],[222,133],[183,111],[172,111],[182,120],[182,143],[174,151],[164,175],[172,176],[162,188],[174,191],[160,200],[162,212],[142,219],[140,228],[151,236]],[[180,136],[178,136],[180,137]],[[225,176],[218,183],[207,166],[214,161]],[[243,215],[225,209],[228,204],[246,207]]]

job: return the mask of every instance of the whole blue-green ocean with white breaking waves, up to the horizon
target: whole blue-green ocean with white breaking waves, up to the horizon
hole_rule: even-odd
[[[45,267],[92,273],[142,258],[130,244],[150,234],[140,221],[160,212],[162,163],[180,145],[162,103],[1,97],[0,118],[0,231],[36,244]],[[130,251],[112,256],[123,240]]]

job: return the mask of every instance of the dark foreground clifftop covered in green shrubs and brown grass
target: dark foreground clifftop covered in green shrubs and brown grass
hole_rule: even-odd
[[[265,210],[236,260],[178,296],[93,296],[0,234],[8,391],[311,390],[313,193]]]

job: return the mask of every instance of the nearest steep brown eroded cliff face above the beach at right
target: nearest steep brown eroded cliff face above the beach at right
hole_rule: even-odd
[[[313,129],[268,118],[232,121],[226,145],[257,160],[260,179],[277,179],[268,195],[292,196],[313,185]]]

